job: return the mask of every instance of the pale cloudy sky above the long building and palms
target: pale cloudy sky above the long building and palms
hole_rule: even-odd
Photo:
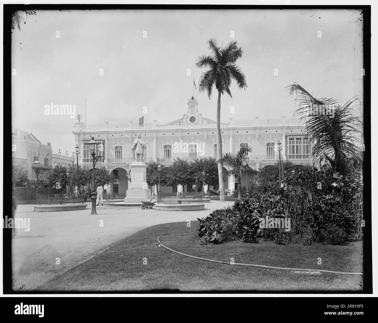
[[[220,46],[236,40],[244,52],[237,65],[248,87],[231,85],[232,98],[221,99],[221,120],[293,117],[295,97],[285,87],[294,82],[314,97],[341,104],[363,93],[363,23],[355,10],[38,10],[22,15],[21,30],[12,29],[12,128],[51,142],[54,153],[74,151],[77,121],[46,115],[51,102],[75,105],[84,118],[86,100],[87,124],[182,117],[193,79],[198,88],[206,71],[195,62],[211,53],[209,38]],[[211,99],[198,90],[194,96],[199,112],[216,120],[216,91]]]

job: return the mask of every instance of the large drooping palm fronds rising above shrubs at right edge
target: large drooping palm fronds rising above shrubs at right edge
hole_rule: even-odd
[[[344,175],[361,166],[363,155],[355,143],[361,142],[362,118],[355,116],[353,111],[359,98],[353,97],[340,105],[335,99],[314,98],[297,83],[287,88],[290,95],[296,93],[299,107],[294,114],[298,114],[300,121],[305,123],[305,135],[309,138],[314,160],[320,164],[329,163],[333,172]],[[321,110],[332,113],[327,115]],[[313,111],[318,114],[314,115]]]

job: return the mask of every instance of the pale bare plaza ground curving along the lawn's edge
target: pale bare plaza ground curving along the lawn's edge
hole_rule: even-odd
[[[30,230],[18,229],[12,238],[13,289],[31,291],[146,227],[195,221],[233,203],[211,201],[205,210],[170,212],[98,206],[97,215],[90,214],[90,203],[86,210],[61,212],[34,212],[34,205],[19,205],[15,218],[30,218]]]

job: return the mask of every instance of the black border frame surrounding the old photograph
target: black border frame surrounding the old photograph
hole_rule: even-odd
[[[10,17],[12,11],[15,10],[102,10],[102,9],[228,9],[228,10],[239,10],[239,9],[361,9],[363,11],[363,68],[365,69],[364,85],[363,85],[363,98],[364,98],[364,143],[366,145],[366,150],[364,153],[364,219],[366,224],[370,224],[364,228],[364,249],[363,249],[363,259],[364,259],[364,288],[361,292],[353,291],[276,291],[263,293],[261,291],[203,291],[203,292],[190,292],[190,291],[171,291],[171,290],[161,290],[161,291],[140,291],[140,292],[77,292],[71,291],[70,294],[372,294],[372,205],[371,205],[371,6],[370,5],[76,5],[76,4],[4,4],[3,10],[3,30],[10,31]],[[3,118],[4,121],[9,119],[9,114],[6,113],[5,107],[11,107],[11,33],[4,32],[3,34]],[[12,123],[4,123],[3,131],[3,144],[6,149],[10,149],[11,142],[7,142],[6,138],[9,138],[11,133]],[[6,150],[5,150],[6,151]],[[9,195],[6,195],[5,187],[12,187],[11,174],[9,172],[9,166],[3,164],[3,201],[9,201]],[[3,204],[3,217],[11,213],[11,204],[6,202]],[[12,295],[22,295],[22,294],[67,294],[67,292],[34,292],[34,291],[12,291],[11,289],[11,277],[12,277],[12,266],[11,266],[11,230],[3,230],[3,294]],[[18,303],[18,301],[16,302]],[[358,303],[358,302],[357,302]]]

